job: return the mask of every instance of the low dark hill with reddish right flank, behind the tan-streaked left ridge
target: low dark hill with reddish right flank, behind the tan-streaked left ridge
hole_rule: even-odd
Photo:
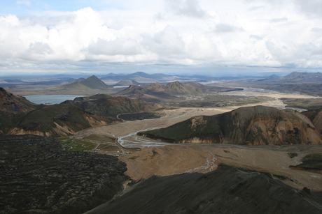
[[[158,104],[152,104],[137,99],[112,97],[111,95],[106,94],[79,97],[74,100],[62,102],[62,104],[66,103],[76,105],[84,111],[100,115],[152,112],[153,110],[162,107]]]

